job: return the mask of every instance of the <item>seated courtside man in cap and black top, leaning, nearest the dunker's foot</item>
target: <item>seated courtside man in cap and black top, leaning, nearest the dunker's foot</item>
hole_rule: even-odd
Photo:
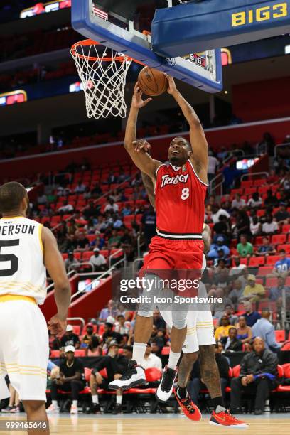
[[[128,366],[128,360],[119,354],[119,343],[111,340],[108,343],[108,353],[98,360],[90,375],[90,389],[92,392],[92,412],[100,413],[98,390],[109,390],[109,382],[119,379]],[[107,377],[100,375],[101,370],[107,370]],[[122,412],[122,390],[116,390],[116,405],[113,414]]]

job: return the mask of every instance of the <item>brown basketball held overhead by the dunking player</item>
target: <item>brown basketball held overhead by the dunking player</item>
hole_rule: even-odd
[[[144,67],[138,76],[138,82],[144,94],[150,97],[157,97],[166,92],[168,80],[165,75],[153,68]]]

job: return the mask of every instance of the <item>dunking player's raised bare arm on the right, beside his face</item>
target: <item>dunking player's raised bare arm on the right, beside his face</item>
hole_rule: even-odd
[[[193,150],[190,161],[193,163],[193,167],[200,180],[204,183],[208,183],[208,141],[205,138],[203,127],[193,107],[190,106],[177,90],[173,77],[166,73],[164,73],[164,75],[168,79],[168,93],[176,100],[183,112],[183,116],[189,124],[190,144]]]

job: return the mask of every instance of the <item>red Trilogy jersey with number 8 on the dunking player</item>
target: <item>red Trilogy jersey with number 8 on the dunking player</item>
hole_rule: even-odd
[[[155,184],[157,235],[201,239],[207,188],[189,160],[181,167],[159,166]]]

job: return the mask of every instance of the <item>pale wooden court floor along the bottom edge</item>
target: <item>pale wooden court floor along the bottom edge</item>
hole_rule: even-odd
[[[49,417],[51,434],[102,434],[102,435],[213,435],[236,434],[247,431],[247,435],[280,435],[289,434],[289,414],[264,414],[263,417],[254,415],[240,416],[249,424],[248,429],[227,429],[213,426],[208,423],[209,414],[203,415],[202,421],[194,423],[183,415],[139,415],[128,414],[121,416],[98,415],[87,416],[79,414],[69,416],[62,414],[59,417]],[[23,419],[23,416],[9,417],[9,419]],[[0,417],[4,420],[6,417]],[[23,434],[22,431],[0,431],[1,435]]]

